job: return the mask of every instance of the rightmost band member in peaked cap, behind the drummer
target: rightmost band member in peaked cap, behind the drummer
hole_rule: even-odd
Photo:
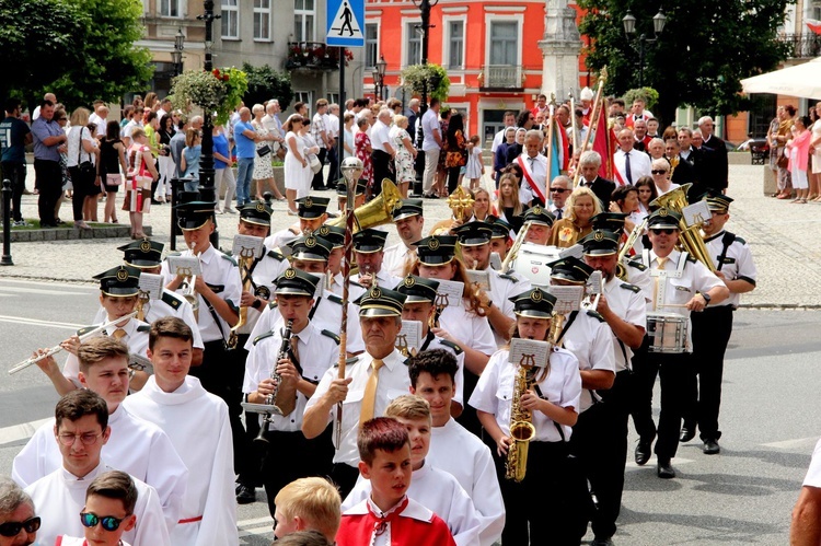
[[[720,451],[718,408],[721,404],[724,355],[732,334],[732,313],[738,307],[740,294],[755,289],[755,264],[750,247],[743,239],[724,229],[730,219],[732,200],[724,194],[710,194],[707,206],[712,216],[709,221],[702,224],[704,243],[717,269],[716,276],[725,283],[730,295],[721,303],[710,302],[702,313],[692,315],[693,363],[698,374],[698,385],[695,382],[691,384],[680,440],[690,441],[695,435],[697,423],[707,455]]]

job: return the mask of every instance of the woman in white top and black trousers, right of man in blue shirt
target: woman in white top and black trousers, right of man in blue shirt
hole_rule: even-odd
[[[94,184],[100,184],[100,175],[94,166],[92,155],[96,149],[96,140],[86,125],[89,125],[90,112],[82,106],[71,113],[69,121],[71,128],[68,131],[68,170],[71,174],[73,197],[71,208],[74,212],[74,228],[78,230],[90,230],[83,220],[83,206],[86,196],[91,195]]]

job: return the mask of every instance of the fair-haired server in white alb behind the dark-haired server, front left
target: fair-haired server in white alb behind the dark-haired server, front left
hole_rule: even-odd
[[[108,408],[112,437],[102,456],[111,466],[157,489],[169,530],[176,525],[185,495],[188,469],[171,440],[157,425],[135,417],[122,402],[128,394],[128,348],[111,337],[95,337],[80,345],[80,384],[100,396]],[[46,374],[60,374],[53,358],[38,362]],[[54,441],[55,421],[43,425],[14,457],[12,478],[26,487],[62,466]]]

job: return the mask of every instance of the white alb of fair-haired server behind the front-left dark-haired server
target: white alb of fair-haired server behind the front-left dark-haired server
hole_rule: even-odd
[[[180,519],[188,469],[174,445],[157,425],[128,413],[123,405],[108,416],[112,428],[101,457],[157,490],[169,530]],[[11,477],[27,487],[62,467],[60,448],[54,437],[55,420],[43,425],[14,457]]]

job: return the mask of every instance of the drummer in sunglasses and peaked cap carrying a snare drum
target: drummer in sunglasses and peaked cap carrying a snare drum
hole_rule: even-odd
[[[636,431],[639,433],[636,463],[647,463],[650,444],[657,432],[652,422],[651,403],[652,386],[658,374],[661,377],[661,414],[655,450],[658,457],[656,472],[658,477],[664,479],[675,477],[670,461],[679,446],[687,388],[694,373],[690,313],[704,311],[708,303],[719,303],[730,295],[721,279],[710,272],[707,266],[696,262],[686,252],[675,249],[681,220],[681,214],[664,207],[649,216],[647,224],[652,249],[645,249],[641,260],[655,281],[654,298],[647,304],[648,318],[660,314],[682,315],[687,326],[683,352],[645,352],[646,348],[651,348],[649,336],[645,336],[641,350],[633,358],[636,373],[636,406],[633,414]]]

